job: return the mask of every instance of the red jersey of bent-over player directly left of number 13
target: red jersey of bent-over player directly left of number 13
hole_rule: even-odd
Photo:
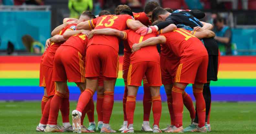
[[[63,46],[64,45],[72,46],[72,47],[76,48],[81,53],[82,56],[85,56],[88,41],[89,41],[89,39],[87,38],[86,35],[76,34],[76,35],[69,37],[69,39],[62,45]]]

